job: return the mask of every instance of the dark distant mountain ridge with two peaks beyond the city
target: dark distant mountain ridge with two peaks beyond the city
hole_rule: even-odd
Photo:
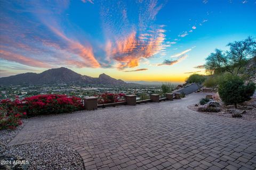
[[[123,80],[111,78],[109,75],[100,74],[99,78],[92,78],[87,75],[78,74],[65,67],[58,69],[46,70],[42,73],[22,73],[12,75],[10,77],[0,78],[0,84],[3,85],[17,85],[17,84],[41,84],[41,83],[60,83],[60,82],[77,82],[89,84],[111,84],[111,85],[125,85]]]

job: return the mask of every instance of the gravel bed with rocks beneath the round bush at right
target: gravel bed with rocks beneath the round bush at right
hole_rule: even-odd
[[[192,111],[199,112],[197,111],[198,107],[203,107],[202,105],[198,104],[198,106],[195,105],[189,105],[188,108],[191,109]],[[239,109],[239,107],[238,107]],[[241,108],[241,111],[244,109]],[[226,108],[221,107],[221,112],[199,112],[199,113],[204,113],[204,114],[210,114],[210,115],[217,115],[217,116],[223,116],[223,117],[232,117],[231,113],[226,113]],[[232,118],[238,118],[238,119],[243,119],[247,121],[256,121],[256,108],[253,107],[252,109],[245,109],[246,113],[242,114],[242,117],[232,117]],[[225,113],[223,113],[225,112]]]

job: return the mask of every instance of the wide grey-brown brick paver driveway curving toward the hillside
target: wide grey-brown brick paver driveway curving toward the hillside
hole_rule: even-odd
[[[187,108],[202,97],[38,117],[9,145],[65,143],[86,169],[255,169],[256,123]]]

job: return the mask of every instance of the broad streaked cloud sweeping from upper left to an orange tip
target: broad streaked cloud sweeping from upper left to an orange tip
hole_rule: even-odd
[[[5,18],[6,21],[1,21],[1,25],[5,24],[5,26],[0,27],[0,49],[28,58],[31,58],[30,56],[45,57],[45,63],[48,65],[100,67],[90,43],[85,40],[81,43],[75,36],[65,35],[65,31],[60,27],[62,24],[58,15],[65,11],[69,1],[43,3],[33,1],[19,4],[25,5],[26,12],[33,18],[27,19],[18,15],[17,19]],[[58,6],[58,10],[53,12],[52,6]],[[13,10],[13,13],[15,12],[20,13]],[[38,29],[38,25],[41,25],[40,29]],[[11,57],[5,58],[5,60],[12,61]],[[28,62],[20,63],[29,65]]]

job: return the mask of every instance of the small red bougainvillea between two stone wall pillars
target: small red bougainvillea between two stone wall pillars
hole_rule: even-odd
[[[111,94],[111,93],[104,93],[98,97],[98,104],[107,104],[107,103],[117,103],[124,101],[125,94]]]

